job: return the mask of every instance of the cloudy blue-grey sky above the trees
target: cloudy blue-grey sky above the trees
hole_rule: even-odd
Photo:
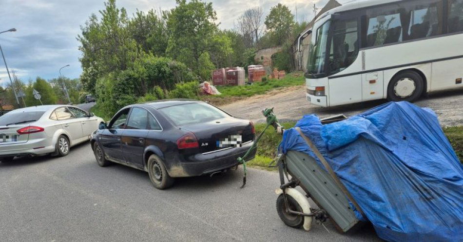
[[[278,3],[286,4],[297,20],[313,18],[313,4],[322,8],[328,0],[206,0],[212,1],[217,23],[222,29],[231,29],[248,8],[260,6],[264,15]],[[346,0],[344,0],[346,1]],[[343,1],[340,0],[342,3]],[[297,3],[297,5],[296,5]],[[117,7],[126,8],[128,15],[150,9],[171,9],[175,0],[116,0]],[[23,80],[57,78],[59,68],[65,77],[78,78],[82,68],[76,40],[80,26],[92,13],[100,17],[104,0],[0,0],[0,32],[16,28],[16,32],[0,34],[0,45],[10,69]],[[5,65],[0,59],[0,85],[9,82]]]

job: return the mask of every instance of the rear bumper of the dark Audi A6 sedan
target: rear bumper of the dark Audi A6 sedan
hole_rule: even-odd
[[[168,173],[171,177],[193,177],[227,170],[240,164],[237,161],[238,157],[243,157],[251,145],[252,142],[243,145],[243,147],[235,147],[206,155],[198,154],[195,156],[196,161],[180,162],[179,165],[171,167]],[[251,152],[246,161],[254,159],[255,154],[256,149]]]

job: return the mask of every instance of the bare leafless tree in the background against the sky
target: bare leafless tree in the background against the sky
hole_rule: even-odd
[[[238,29],[248,39],[247,47],[254,46],[259,41],[263,21],[264,12],[260,7],[246,10],[238,19]]]

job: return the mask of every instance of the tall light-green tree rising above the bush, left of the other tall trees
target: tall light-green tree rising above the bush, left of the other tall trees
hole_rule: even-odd
[[[81,81],[87,91],[95,93],[96,79],[115,70],[125,70],[132,66],[141,52],[129,32],[129,19],[124,8],[116,7],[116,0],[104,3],[105,9],[99,11],[101,19],[95,14],[81,27],[79,59],[83,72]]]

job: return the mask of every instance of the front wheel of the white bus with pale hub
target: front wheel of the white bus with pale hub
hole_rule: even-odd
[[[423,78],[415,71],[396,75],[387,87],[389,101],[416,101],[423,93]]]

